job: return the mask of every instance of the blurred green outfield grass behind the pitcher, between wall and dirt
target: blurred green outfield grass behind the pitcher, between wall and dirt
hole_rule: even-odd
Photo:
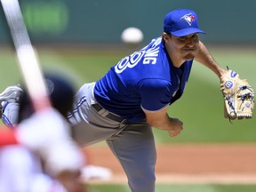
[[[211,48],[212,55],[221,66],[236,70],[242,78],[246,77],[256,89],[255,49]],[[96,81],[112,65],[133,50],[54,50],[38,49],[39,59],[45,70],[62,72],[70,77],[78,89],[84,83]],[[10,50],[2,49],[0,89],[20,81],[16,57]],[[233,121],[223,117],[223,100],[220,93],[219,78],[195,62],[183,97],[174,103],[170,116],[179,117],[184,130],[177,138],[170,138],[167,132],[154,129],[156,141],[161,143],[184,142],[255,142],[255,117]]]

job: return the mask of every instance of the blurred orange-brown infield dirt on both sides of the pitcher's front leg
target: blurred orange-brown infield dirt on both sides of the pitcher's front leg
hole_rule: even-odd
[[[171,144],[157,146],[156,182],[256,184],[256,144]],[[108,147],[89,147],[89,163],[107,167],[112,182],[126,182]]]

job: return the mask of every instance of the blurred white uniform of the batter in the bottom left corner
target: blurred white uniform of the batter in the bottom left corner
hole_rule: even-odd
[[[42,171],[38,156],[23,146],[0,149],[0,192],[67,192]]]

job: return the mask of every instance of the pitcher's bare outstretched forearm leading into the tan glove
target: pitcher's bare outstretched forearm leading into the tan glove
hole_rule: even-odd
[[[210,52],[202,42],[199,42],[199,51],[196,53],[195,60],[202,63],[207,68],[210,68],[217,76],[223,76],[228,71],[221,68],[220,65],[213,59]]]

